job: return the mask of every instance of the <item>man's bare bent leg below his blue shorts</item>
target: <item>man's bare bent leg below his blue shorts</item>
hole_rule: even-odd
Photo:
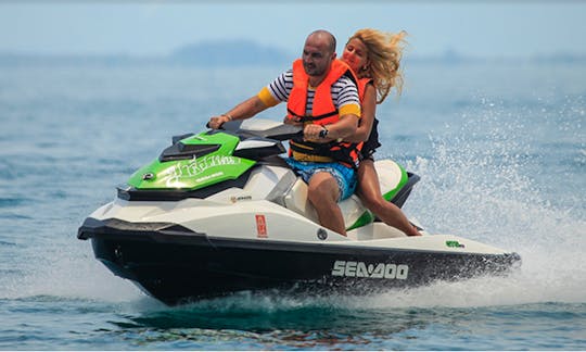
[[[307,198],[316,209],[319,223],[333,231],[346,236],[344,216],[337,205],[340,188],[335,178],[327,172],[311,176],[307,189]]]

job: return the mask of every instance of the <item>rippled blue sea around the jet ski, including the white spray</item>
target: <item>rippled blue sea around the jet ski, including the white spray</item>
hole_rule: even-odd
[[[85,217],[284,68],[0,65],[0,350],[586,349],[584,62],[407,61],[379,106],[377,158],[421,176],[405,212],[517,251],[510,276],[169,307],[99,263]]]

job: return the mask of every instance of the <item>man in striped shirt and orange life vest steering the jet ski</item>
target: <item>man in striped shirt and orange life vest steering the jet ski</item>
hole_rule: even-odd
[[[321,225],[345,236],[337,201],[354,192],[358,160],[354,147],[340,141],[356,131],[360,100],[352,71],[335,56],[333,35],[311,33],[292,70],[228,113],[212,117],[209,126],[219,128],[286,101],[285,120],[304,125],[304,138],[290,141],[286,162],[307,183],[308,200]]]

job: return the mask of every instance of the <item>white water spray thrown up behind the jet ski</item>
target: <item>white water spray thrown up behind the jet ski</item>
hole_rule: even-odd
[[[430,137],[431,158],[417,158],[407,168],[422,175],[408,210],[432,232],[453,232],[514,250],[523,265],[507,278],[479,278],[441,282],[390,293],[374,304],[399,305],[501,305],[534,302],[583,302],[586,292],[586,221],[583,189],[559,188],[550,193],[548,174],[559,162],[538,151],[549,139],[536,139],[551,127],[531,124],[527,110],[510,109],[486,101],[485,109],[464,115],[460,126],[446,126]],[[578,116],[579,118],[579,116]],[[575,125],[575,124],[574,124]],[[535,127],[539,126],[539,127]],[[548,134],[556,135],[555,129]],[[573,147],[581,148],[583,130],[574,129]],[[579,165],[568,178],[578,181]],[[548,176],[548,175],[546,175]],[[576,193],[577,191],[577,193]],[[577,201],[579,200],[579,201]]]

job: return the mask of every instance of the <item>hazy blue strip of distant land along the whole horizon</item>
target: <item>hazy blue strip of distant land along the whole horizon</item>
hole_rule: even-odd
[[[138,56],[128,54],[38,54],[0,52],[0,65],[181,65],[202,67],[234,66],[286,66],[300,53],[263,46],[250,39],[211,40],[190,43],[173,50],[167,55]],[[407,53],[408,63],[463,64],[475,62],[527,62],[527,63],[586,63],[586,55],[574,53],[553,53],[548,55],[527,55],[519,58],[469,56],[453,49],[433,55]]]

